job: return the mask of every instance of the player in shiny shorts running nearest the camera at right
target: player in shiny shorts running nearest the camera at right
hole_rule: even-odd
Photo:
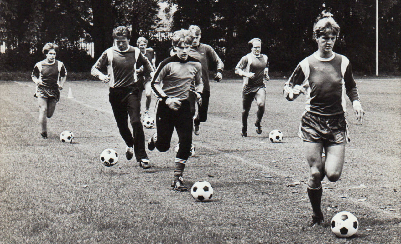
[[[342,172],[345,144],[349,141],[344,117],[345,94],[351,100],[360,123],[365,114],[348,58],[333,52],[340,27],[332,14],[322,12],[313,32],[318,50],[298,64],[283,91],[289,101],[301,93],[307,98],[298,136],[304,140],[309,165],[307,192],[313,210],[311,226],[323,223],[321,181],[327,176],[328,180],[335,182]]]

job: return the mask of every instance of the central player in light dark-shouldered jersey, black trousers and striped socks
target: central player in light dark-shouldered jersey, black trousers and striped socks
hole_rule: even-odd
[[[152,90],[161,101],[156,110],[156,133],[149,138],[148,148],[153,150],[156,147],[160,152],[166,152],[170,148],[173,130],[176,129],[180,147],[174,160],[171,188],[177,191],[188,190],[182,183],[182,173],[191,155],[192,116],[188,94],[192,80],[194,90],[191,92],[198,99],[201,99],[198,92],[203,90],[201,62],[188,55],[193,39],[188,30],[182,29],[173,33],[172,46],[176,54],[159,64],[151,84]]]

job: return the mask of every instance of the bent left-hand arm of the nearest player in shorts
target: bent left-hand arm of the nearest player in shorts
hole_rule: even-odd
[[[305,87],[302,85],[305,81],[305,74],[300,64],[294,70],[286,84],[284,85],[283,94],[288,101],[297,98],[301,93],[306,94]]]

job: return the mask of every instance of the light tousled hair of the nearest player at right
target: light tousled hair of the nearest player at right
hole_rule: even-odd
[[[338,37],[340,34],[340,26],[333,19],[333,14],[330,12],[322,11],[316,18],[313,25],[313,39],[318,39],[322,35],[334,34]]]

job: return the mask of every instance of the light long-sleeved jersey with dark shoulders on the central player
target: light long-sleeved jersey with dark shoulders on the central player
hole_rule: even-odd
[[[154,75],[151,83],[152,90],[162,99],[178,98],[185,100],[188,98],[190,84],[194,79],[194,90],[203,91],[202,65],[201,62],[191,56],[186,60],[180,60],[177,55],[163,60]],[[162,87],[160,86],[161,84]]]

